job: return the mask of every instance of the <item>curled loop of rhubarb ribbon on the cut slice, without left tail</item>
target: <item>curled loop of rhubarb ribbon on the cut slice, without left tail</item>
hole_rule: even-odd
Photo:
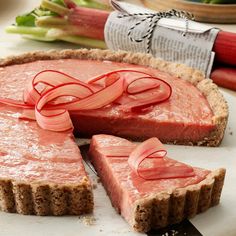
[[[146,180],[194,176],[191,166],[166,157],[167,151],[157,138],[139,144],[129,155],[128,163],[136,175]]]

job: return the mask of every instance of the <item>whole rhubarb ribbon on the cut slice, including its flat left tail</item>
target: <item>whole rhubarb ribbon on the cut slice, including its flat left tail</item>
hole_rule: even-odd
[[[166,157],[164,145],[155,137],[139,145],[128,143],[106,146],[98,151],[108,158],[126,158],[131,171],[145,180],[195,176],[191,166]]]

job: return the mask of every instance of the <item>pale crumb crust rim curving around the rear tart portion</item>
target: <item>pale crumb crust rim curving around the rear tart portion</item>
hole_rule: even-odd
[[[12,56],[0,60],[0,67],[34,62],[37,60],[56,59],[92,59],[100,61],[109,60],[114,62],[137,64],[141,66],[152,67],[154,69],[171,74],[172,76],[184,79],[197,87],[206,97],[214,114],[212,117],[212,122],[215,125],[215,129],[207,137],[204,137],[202,140],[198,140],[197,142],[192,142],[189,140],[174,140],[171,143],[198,146],[218,146],[223,139],[228,120],[228,106],[223,95],[220,93],[218,87],[210,79],[204,78],[200,71],[183,64],[163,61],[143,53],[131,53],[125,51],[113,52],[110,50],[99,49],[79,49],[62,51],[53,50],[47,52],[36,51],[19,56]]]

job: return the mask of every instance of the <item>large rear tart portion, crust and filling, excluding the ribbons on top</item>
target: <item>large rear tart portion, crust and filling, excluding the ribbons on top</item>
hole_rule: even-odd
[[[130,68],[168,83],[170,98],[143,112],[126,112],[116,102],[99,109],[74,109],[69,113],[76,134],[106,133],[134,140],[156,136],[164,143],[220,144],[228,108],[216,85],[199,71],[150,55],[83,49],[7,58],[0,61],[0,97],[22,101],[26,85],[43,70],[57,70],[87,82],[102,73]]]

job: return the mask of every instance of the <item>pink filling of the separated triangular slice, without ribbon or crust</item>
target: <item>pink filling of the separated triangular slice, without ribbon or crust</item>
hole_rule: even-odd
[[[162,191],[171,192],[197,184],[210,173],[208,170],[195,168],[194,177],[160,180],[145,180],[133,173],[128,165],[128,157],[106,157],[102,148],[111,146],[130,146],[128,140],[111,135],[95,135],[90,145],[90,158],[97,169],[112,204],[123,217],[132,222],[132,212],[138,200]],[[149,159],[152,161],[152,159]]]

